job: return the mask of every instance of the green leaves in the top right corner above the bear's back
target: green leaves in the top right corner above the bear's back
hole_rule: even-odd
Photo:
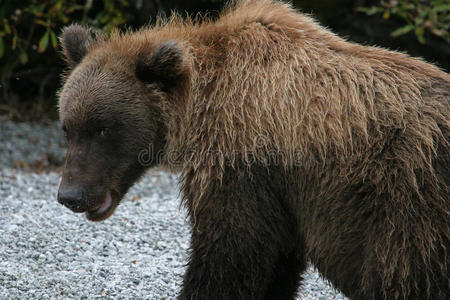
[[[404,26],[394,30],[394,37],[414,32],[417,40],[425,44],[429,32],[450,43],[450,1],[449,0],[388,0],[380,6],[359,7],[358,11],[369,16],[381,14],[383,19],[400,18]]]

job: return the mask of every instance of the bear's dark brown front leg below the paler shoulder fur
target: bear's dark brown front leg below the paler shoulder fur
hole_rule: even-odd
[[[264,167],[242,169],[228,168],[201,198],[194,173],[184,178],[193,227],[179,299],[295,297],[305,259],[283,183]]]

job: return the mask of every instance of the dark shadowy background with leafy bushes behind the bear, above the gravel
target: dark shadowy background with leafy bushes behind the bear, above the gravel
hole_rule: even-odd
[[[0,0],[0,114],[15,120],[57,117],[56,95],[65,66],[56,37],[67,24],[136,29],[172,10],[215,18],[226,2]],[[406,51],[450,71],[450,0],[292,2],[349,40]]]

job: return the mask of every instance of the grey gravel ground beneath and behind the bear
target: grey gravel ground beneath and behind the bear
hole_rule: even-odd
[[[189,245],[175,175],[150,171],[104,222],[56,201],[57,122],[0,118],[0,299],[174,299]],[[299,299],[345,299],[309,268]]]

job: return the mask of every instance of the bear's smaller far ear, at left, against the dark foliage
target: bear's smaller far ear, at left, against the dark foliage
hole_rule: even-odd
[[[77,24],[65,27],[59,40],[64,56],[71,68],[81,62],[86,55],[87,48],[93,43],[89,29]]]

